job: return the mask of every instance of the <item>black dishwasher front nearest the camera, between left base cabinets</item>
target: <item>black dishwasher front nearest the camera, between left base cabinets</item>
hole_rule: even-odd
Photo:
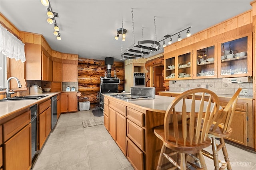
[[[33,160],[36,151],[37,151],[37,142],[36,142],[36,136],[37,136],[37,105],[33,105],[30,107],[31,111],[31,160]]]

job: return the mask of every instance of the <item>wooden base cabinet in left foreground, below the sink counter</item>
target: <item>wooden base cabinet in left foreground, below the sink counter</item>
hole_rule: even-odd
[[[1,119],[0,147],[4,170],[31,168],[31,123],[29,107]]]

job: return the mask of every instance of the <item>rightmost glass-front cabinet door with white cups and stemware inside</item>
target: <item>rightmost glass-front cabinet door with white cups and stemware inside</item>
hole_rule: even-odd
[[[218,43],[218,77],[252,76],[252,33]]]

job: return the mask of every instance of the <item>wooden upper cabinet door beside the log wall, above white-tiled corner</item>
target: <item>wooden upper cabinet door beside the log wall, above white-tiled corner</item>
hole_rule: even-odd
[[[62,63],[62,82],[78,81],[78,64]]]

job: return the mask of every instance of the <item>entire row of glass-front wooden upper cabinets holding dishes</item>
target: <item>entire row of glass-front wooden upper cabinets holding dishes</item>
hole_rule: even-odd
[[[222,35],[217,41],[207,39],[164,54],[165,80],[252,76],[252,33],[228,37]]]

